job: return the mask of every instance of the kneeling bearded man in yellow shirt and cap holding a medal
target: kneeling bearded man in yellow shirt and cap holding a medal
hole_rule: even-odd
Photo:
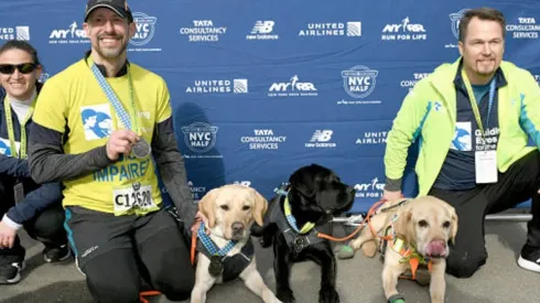
[[[143,280],[169,300],[185,300],[194,284],[190,249],[163,207],[158,173],[186,235],[202,216],[177,150],[166,84],[127,61],[136,24],[126,1],[89,0],[84,29],[91,51],[40,94],[32,177],[64,183],[65,227],[95,300],[139,302]]]

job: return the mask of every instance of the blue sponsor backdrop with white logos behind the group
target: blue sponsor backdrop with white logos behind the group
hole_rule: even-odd
[[[0,43],[29,40],[46,80],[89,50],[85,4],[2,0]],[[355,185],[353,210],[367,210],[385,184],[391,121],[415,82],[458,56],[463,10],[500,9],[505,58],[540,75],[538,0],[129,4],[138,23],[129,59],[169,85],[195,198],[235,182],[270,197],[293,170],[320,163]],[[415,193],[412,174],[404,193]]]

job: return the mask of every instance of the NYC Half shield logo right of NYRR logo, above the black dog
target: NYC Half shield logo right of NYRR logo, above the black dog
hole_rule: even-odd
[[[343,87],[350,97],[365,98],[374,91],[378,74],[378,71],[356,65],[342,72]]]

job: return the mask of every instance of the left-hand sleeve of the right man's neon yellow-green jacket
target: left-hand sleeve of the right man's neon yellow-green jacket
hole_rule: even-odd
[[[409,147],[420,134],[429,110],[424,97],[428,85],[430,85],[428,78],[424,78],[407,95],[388,133],[385,152],[385,190],[387,191],[401,191]]]

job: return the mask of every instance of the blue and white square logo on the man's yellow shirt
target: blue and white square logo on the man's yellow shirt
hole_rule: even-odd
[[[87,141],[107,138],[112,132],[109,104],[80,107],[80,119]]]

